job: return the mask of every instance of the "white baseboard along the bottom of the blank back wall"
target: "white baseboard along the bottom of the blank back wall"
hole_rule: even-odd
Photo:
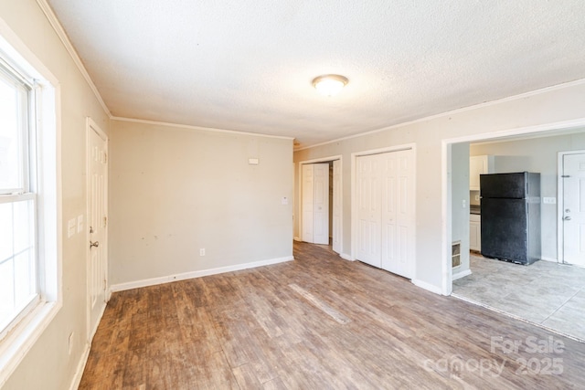
[[[228,267],[219,267],[217,269],[203,269],[203,270],[199,270],[199,271],[190,271],[190,272],[180,273],[180,274],[176,274],[176,275],[163,276],[163,277],[159,277],[159,278],[128,281],[125,283],[114,284],[114,285],[110,286],[110,290],[112,292],[115,292],[115,291],[138,289],[141,287],[169,283],[171,281],[201,278],[203,276],[217,275],[217,274],[225,273],[225,272],[239,271],[241,269],[254,269],[256,267],[270,266],[271,264],[283,263],[285,261],[291,261],[293,259],[294,259],[293,256],[287,256],[285,258],[270,258],[268,260],[253,261],[251,263],[237,264],[237,265],[228,266]]]

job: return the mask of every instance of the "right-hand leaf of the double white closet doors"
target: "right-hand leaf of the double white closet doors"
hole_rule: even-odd
[[[411,151],[380,154],[382,269],[412,278],[414,191]]]

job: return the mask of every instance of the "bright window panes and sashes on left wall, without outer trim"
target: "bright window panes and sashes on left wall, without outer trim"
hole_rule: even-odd
[[[0,336],[38,299],[31,85],[0,63]]]

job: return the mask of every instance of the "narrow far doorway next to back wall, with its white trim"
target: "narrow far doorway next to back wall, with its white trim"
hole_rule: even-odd
[[[343,249],[341,156],[300,163],[301,240]]]

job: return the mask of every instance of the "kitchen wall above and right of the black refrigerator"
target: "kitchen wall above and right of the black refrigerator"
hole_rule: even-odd
[[[579,133],[508,142],[473,143],[471,155],[495,156],[495,173],[540,173],[541,196],[557,197],[558,152],[585,150]],[[542,258],[557,261],[557,205],[541,205]]]

